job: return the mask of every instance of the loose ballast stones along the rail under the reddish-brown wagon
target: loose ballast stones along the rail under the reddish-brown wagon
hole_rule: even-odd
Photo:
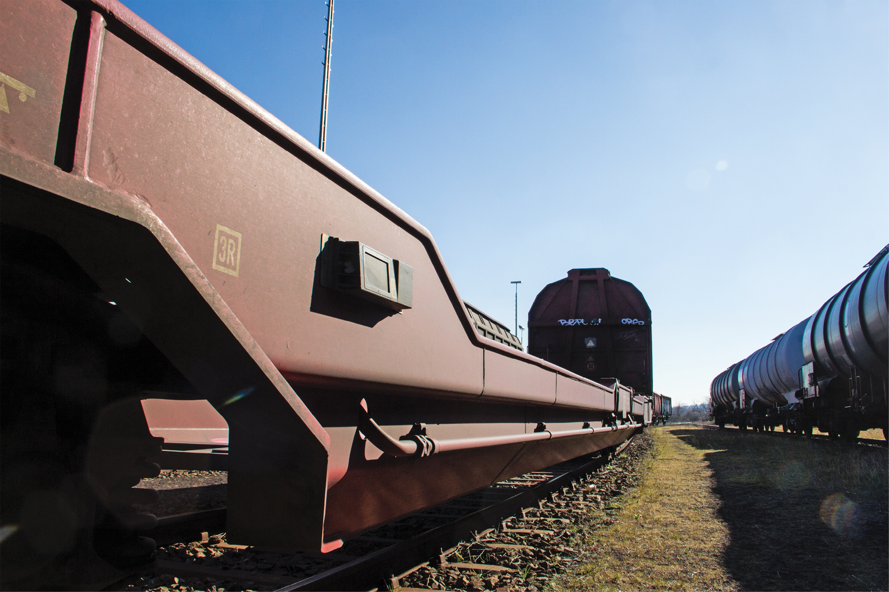
[[[504,520],[496,530],[479,533],[474,541],[463,541],[455,548],[447,549],[444,563],[432,558],[429,564],[401,578],[400,586],[453,592],[543,590],[553,576],[588,560],[588,552],[578,543],[584,533],[611,524],[613,501],[637,484],[638,468],[651,447],[652,439],[647,433],[637,434],[612,462],[575,481],[573,488],[565,487],[561,492],[551,494],[538,507],[525,509],[518,516]],[[303,579],[353,558],[340,558],[336,554],[305,556],[254,548],[217,547],[220,542],[225,544],[225,533],[212,535],[204,544],[177,543],[158,549],[158,558],[224,567],[238,581],[213,577],[177,578],[158,570],[132,578],[117,589],[128,592],[272,592],[278,587],[244,580],[245,576],[256,573]],[[350,542],[374,548],[366,549],[367,552],[385,546],[383,543]],[[470,567],[466,567],[467,564]]]

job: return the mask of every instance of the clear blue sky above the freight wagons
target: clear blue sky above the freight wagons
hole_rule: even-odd
[[[125,4],[317,142],[323,0]],[[334,25],[328,154],[509,325],[510,280],[519,324],[573,267],[635,283],[674,404],[889,242],[889,3],[336,0]]]

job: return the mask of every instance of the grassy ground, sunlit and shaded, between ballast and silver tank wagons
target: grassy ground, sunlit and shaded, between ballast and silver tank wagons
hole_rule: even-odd
[[[885,590],[889,451],[668,426],[571,590]]]

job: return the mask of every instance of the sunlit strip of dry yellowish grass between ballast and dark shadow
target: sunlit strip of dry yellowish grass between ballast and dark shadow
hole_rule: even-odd
[[[639,487],[615,504],[610,527],[588,536],[596,560],[554,590],[738,590],[719,558],[729,529],[717,515],[704,454],[651,430]]]

